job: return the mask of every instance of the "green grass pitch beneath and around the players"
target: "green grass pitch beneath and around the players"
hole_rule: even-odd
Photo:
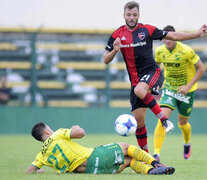
[[[80,144],[95,147],[111,142],[127,142],[137,145],[134,136],[121,137],[113,135],[86,135],[76,140]],[[153,137],[148,138],[149,150],[153,153]],[[183,159],[183,139],[181,135],[167,135],[161,152],[161,162],[174,166],[176,171],[171,176],[149,176],[133,173],[130,168],[115,175],[61,174],[45,167],[43,174],[26,174],[25,171],[36,154],[41,143],[30,135],[1,135],[0,136],[0,179],[36,180],[36,179],[73,179],[73,180],[134,180],[134,179],[176,179],[200,180],[207,179],[207,135],[192,136],[192,156],[190,160]]]

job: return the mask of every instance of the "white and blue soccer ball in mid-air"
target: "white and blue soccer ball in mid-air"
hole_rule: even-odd
[[[135,133],[137,129],[137,121],[129,114],[122,114],[117,117],[114,127],[119,135],[129,136]]]

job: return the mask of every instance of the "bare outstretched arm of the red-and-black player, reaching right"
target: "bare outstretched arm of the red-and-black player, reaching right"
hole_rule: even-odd
[[[189,39],[196,39],[203,37],[207,34],[207,25],[203,25],[198,31],[193,33],[184,33],[184,32],[168,32],[164,39],[173,40],[173,41],[184,41]]]

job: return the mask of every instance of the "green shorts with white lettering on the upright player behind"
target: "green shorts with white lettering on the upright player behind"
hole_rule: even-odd
[[[178,94],[177,91],[173,91],[164,88],[160,100],[160,107],[170,107],[172,110],[178,109],[178,112],[183,117],[189,117],[195,98],[195,92],[190,92],[186,95]]]

